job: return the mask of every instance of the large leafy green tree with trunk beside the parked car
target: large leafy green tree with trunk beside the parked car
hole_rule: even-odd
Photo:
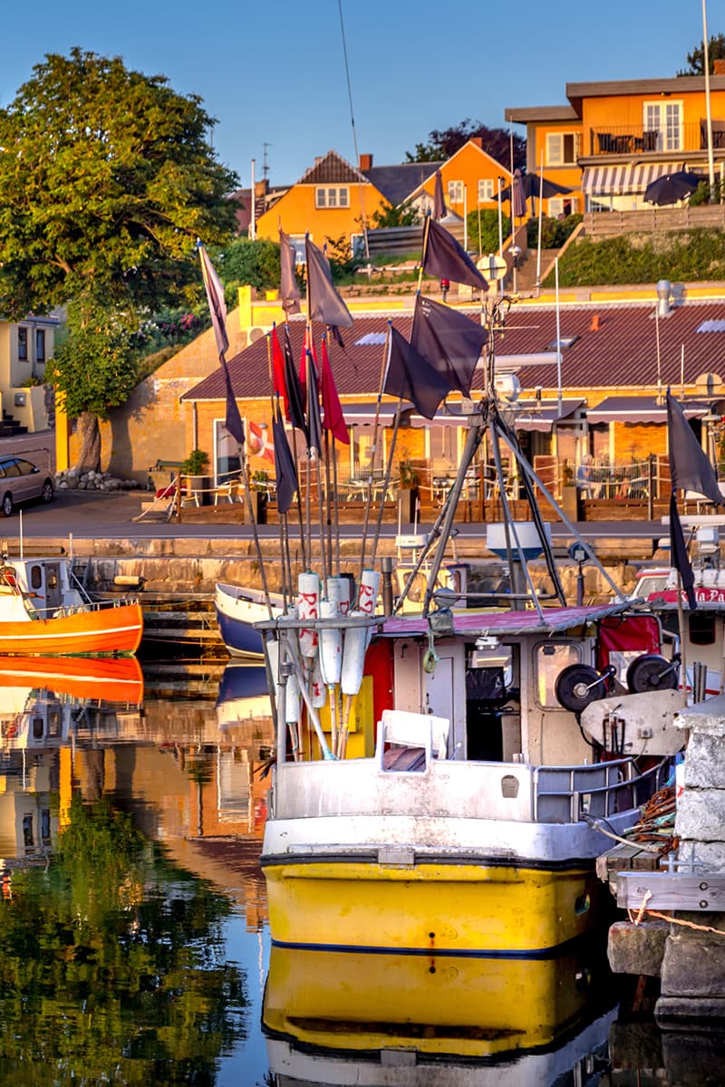
[[[0,312],[75,303],[59,385],[68,409],[88,416],[80,467],[98,466],[98,417],[128,395],[120,329],[191,299],[196,238],[234,234],[226,193],[238,179],[215,159],[212,122],[165,77],[77,48],[48,54],[0,110]]]

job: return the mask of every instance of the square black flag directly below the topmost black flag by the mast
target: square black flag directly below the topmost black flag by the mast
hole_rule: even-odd
[[[415,299],[411,346],[448,383],[449,389],[471,393],[482,349],[488,340],[483,325],[465,313],[418,295]]]

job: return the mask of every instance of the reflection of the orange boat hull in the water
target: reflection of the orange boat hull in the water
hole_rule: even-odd
[[[135,657],[0,658],[0,688],[24,686],[84,700],[143,701],[143,673]]]

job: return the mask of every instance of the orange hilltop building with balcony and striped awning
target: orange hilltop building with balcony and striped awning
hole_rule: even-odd
[[[710,79],[711,126],[703,76],[570,83],[567,105],[505,110],[526,125],[527,171],[574,191],[546,201],[549,215],[647,208],[645,189],[679,170],[715,176],[725,166],[725,63]]]

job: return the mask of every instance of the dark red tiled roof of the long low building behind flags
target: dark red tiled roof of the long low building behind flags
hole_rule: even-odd
[[[675,305],[668,316],[654,317],[655,305],[605,303],[565,305],[561,309],[562,341],[574,340],[562,351],[562,387],[566,389],[653,389],[659,376],[662,387],[677,388],[680,383],[683,347],[684,379],[691,384],[703,373],[718,373],[725,378],[725,332],[698,332],[703,321],[725,320],[725,300],[692,301]],[[477,320],[475,311],[471,318]],[[596,320],[595,320],[596,318]],[[388,317],[355,316],[352,328],[343,329],[345,350],[332,343],[333,370],[340,396],[367,397],[377,393],[383,346]],[[407,338],[412,313],[396,313],[392,323]],[[598,327],[595,327],[598,326]],[[304,338],[304,321],[290,322],[295,360],[298,361]],[[322,327],[314,325],[315,339]],[[378,334],[371,337],[370,334]],[[497,336],[497,357],[505,368],[508,355],[546,354],[555,350],[557,313],[553,307],[520,307],[507,318],[505,329]],[[360,343],[360,340],[365,342]],[[372,340],[372,342],[370,341]],[[262,337],[229,360],[232,384],[239,399],[270,395],[267,340]],[[557,387],[555,361],[524,363],[516,370],[524,390],[537,386]],[[480,375],[474,380],[480,387]],[[186,400],[223,400],[221,370],[210,374],[184,397]],[[600,398],[601,399],[601,398]],[[591,404],[590,404],[591,407]]]

